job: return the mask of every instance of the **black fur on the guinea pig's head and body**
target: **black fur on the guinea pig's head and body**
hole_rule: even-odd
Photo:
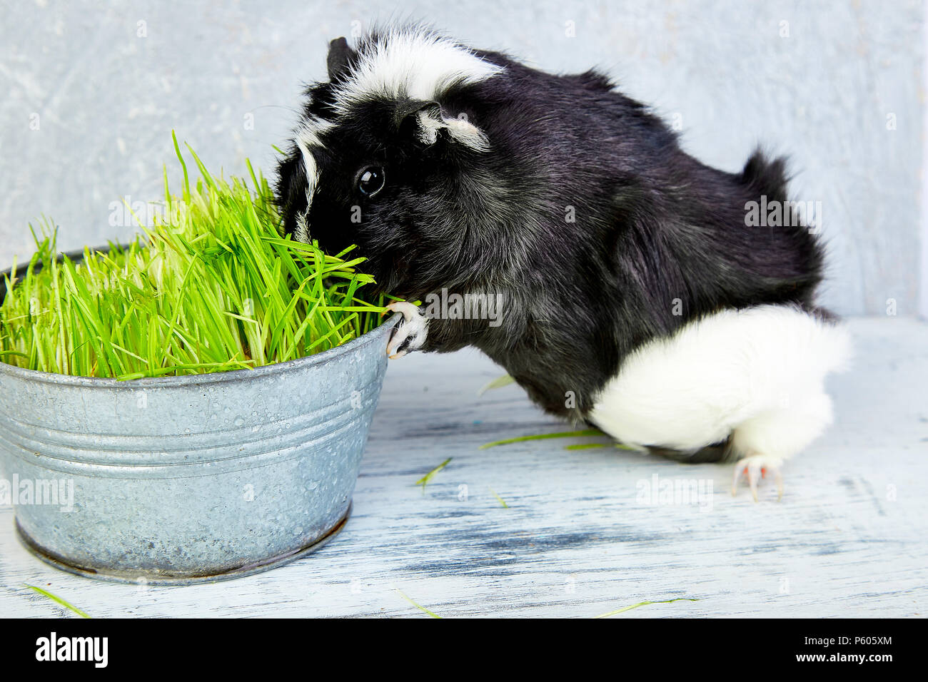
[[[333,41],[330,77],[383,39],[357,51]],[[380,289],[409,300],[443,288],[504,293],[499,327],[432,319],[422,350],[476,346],[538,405],[582,420],[645,341],[721,308],[815,308],[817,238],[798,225],[745,225],[746,202],[787,199],[784,161],[757,151],[741,173],[715,170],[595,71],[551,75],[475,52],[504,71],[452,86],[437,104],[465,114],[488,151],[446,131],[422,143],[408,111],[425,103],[403,97],[355,107],[314,149],[321,180],[307,222],[323,248],[358,244]],[[331,83],[307,93],[307,117],[334,119]],[[386,186],[367,200],[354,180],[369,163],[383,166]],[[293,147],[278,169],[289,230],[306,210],[302,166]]]

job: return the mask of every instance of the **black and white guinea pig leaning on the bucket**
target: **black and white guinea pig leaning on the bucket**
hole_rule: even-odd
[[[406,299],[391,357],[475,346],[549,413],[737,458],[732,492],[744,472],[756,500],[769,470],[782,495],[850,352],[815,302],[823,249],[783,160],[716,170],[597,71],[552,75],[419,25],[333,40],[328,76],[306,90],[277,199],[293,238],[357,244]],[[752,225],[757,203],[780,224]],[[436,296],[489,296],[498,315],[411,303]]]

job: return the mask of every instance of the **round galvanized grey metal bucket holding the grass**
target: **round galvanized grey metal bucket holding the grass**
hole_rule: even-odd
[[[0,363],[0,472],[19,537],[70,573],[152,585],[321,547],[348,518],[398,319],[320,354],[187,377]]]

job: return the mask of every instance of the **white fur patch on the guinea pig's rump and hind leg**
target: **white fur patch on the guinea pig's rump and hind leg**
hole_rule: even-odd
[[[630,445],[686,451],[733,434],[743,455],[792,457],[831,423],[824,378],[850,354],[844,326],[797,307],[725,310],[631,354],[589,417]]]

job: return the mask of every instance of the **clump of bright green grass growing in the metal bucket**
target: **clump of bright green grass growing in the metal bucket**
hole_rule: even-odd
[[[30,225],[27,271],[5,277],[0,361],[122,380],[200,374],[316,354],[378,326],[384,297],[365,298],[373,280],[354,247],[329,255],[285,237],[250,162],[250,182],[216,177],[188,146],[191,186],[176,137],[174,149],[184,187],[172,194],[165,171],[165,217],[130,244],[72,262],[58,258],[56,227]]]

